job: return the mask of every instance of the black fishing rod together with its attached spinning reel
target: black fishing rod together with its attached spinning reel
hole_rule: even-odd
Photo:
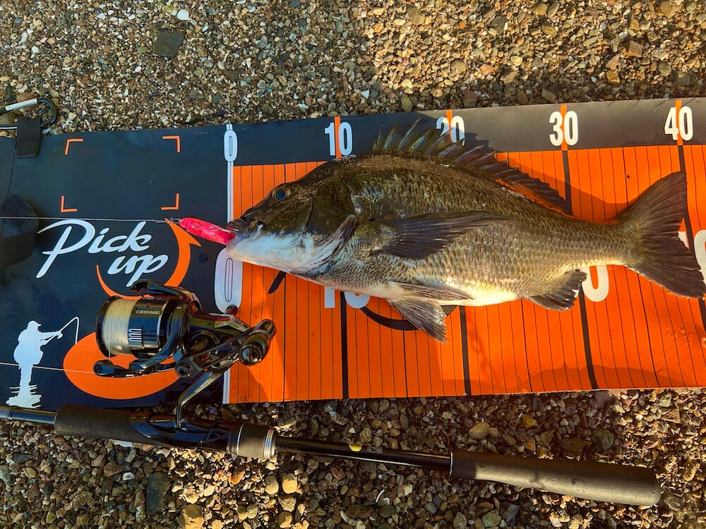
[[[107,357],[94,366],[102,377],[138,377],[174,369],[181,378],[196,377],[177,399],[174,413],[105,410],[67,404],[58,411],[0,406],[0,419],[52,425],[68,437],[209,450],[266,460],[277,454],[305,454],[373,461],[434,470],[455,480],[502,482],[574,497],[650,506],[660,498],[659,484],[648,468],[592,461],[551,460],[482,454],[453,449],[427,454],[325,439],[285,437],[272,427],[227,420],[207,420],[187,413],[186,405],[237,362],[252,366],[270,348],[275,326],[263,320],[253,327],[235,317],[201,311],[196,296],[153,281],[132,287],[137,300],[116,296],[102,306],[96,338]],[[116,354],[132,355],[128,367],[112,363]]]

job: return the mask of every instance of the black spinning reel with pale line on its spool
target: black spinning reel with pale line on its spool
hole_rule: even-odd
[[[198,298],[183,288],[155,281],[131,286],[141,297],[108,298],[98,313],[96,339],[107,360],[93,371],[100,377],[139,377],[174,370],[181,378],[201,375],[177,403],[177,419],[187,401],[215,382],[234,363],[261,362],[275,335],[275,324],[263,320],[250,327],[235,317],[201,311]],[[132,355],[128,367],[115,365],[112,355]]]

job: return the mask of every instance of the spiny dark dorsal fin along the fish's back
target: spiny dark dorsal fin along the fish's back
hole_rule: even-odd
[[[404,134],[400,133],[395,123],[388,135],[378,135],[373,151],[418,154],[475,169],[476,175],[486,176],[550,209],[558,208],[570,214],[566,200],[548,183],[532,178],[516,167],[510,167],[507,162],[498,161],[496,152],[485,150],[483,145],[469,148],[465,147],[464,142],[464,139],[453,141],[450,130],[439,136],[435,128],[421,128],[417,120]]]

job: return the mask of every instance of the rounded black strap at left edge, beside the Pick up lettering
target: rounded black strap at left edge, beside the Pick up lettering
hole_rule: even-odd
[[[0,217],[29,217],[23,219],[0,219],[0,269],[22,262],[35,249],[35,238],[40,227],[32,207],[18,195],[7,195],[0,202]],[[3,225],[7,222],[16,231],[16,235],[2,236]]]

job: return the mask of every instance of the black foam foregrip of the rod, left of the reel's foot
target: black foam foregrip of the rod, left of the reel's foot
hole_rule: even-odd
[[[66,404],[54,418],[54,430],[66,437],[92,437],[133,443],[169,446],[140,434],[130,421],[130,411],[106,410]]]

